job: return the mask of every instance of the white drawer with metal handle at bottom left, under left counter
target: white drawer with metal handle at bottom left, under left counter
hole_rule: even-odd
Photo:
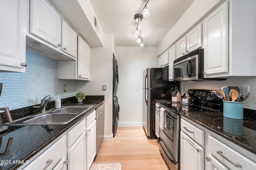
[[[51,147],[44,151],[34,161],[28,164],[24,170],[51,170],[66,154],[66,138],[63,136]],[[46,167],[48,166],[48,167]]]

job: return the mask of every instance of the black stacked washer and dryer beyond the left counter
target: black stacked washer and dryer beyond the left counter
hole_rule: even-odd
[[[119,104],[118,98],[116,96],[118,90],[118,65],[116,58],[113,54],[113,116],[112,116],[112,133],[113,137],[116,135],[116,131],[118,128],[118,121],[119,121]]]

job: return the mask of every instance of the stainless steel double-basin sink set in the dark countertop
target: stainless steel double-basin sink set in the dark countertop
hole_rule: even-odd
[[[38,115],[31,115],[5,123],[8,126],[26,126],[26,125],[64,125],[74,120],[76,117],[86,112],[92,106],[68,106],[60,109],[48,110]]]

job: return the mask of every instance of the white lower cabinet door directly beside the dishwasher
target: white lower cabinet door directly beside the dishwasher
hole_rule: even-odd
[[[96,120],[86,129],[86,170],[90,169],[96,156]]]

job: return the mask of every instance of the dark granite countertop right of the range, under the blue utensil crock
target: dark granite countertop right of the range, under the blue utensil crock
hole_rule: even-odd
[[[240,147],[256,154],[256,121],[253,119],[231,119],[221,112],[180,112],[195,123],[217,133]]]

